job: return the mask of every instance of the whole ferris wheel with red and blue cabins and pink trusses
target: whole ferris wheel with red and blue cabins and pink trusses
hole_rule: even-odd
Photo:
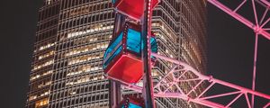
[[[241,0],[235,7],[228,5],[228,0],[208,0],[220,10],[229,14],[238,22],[247,25],[255,32],[255,52],[252,89],[239,85],[234,85],[214,76],[205,76],[201,72],[174,58],[168,58],[157,54],[156,36],[151,32],[152,9],[158,4],[158,0],[112,0],[116,11],[112,40],[106,49],[103,57],[103,69],[105,76],[111,80],[111,107],[140,108],[155,107],[154,97],[167,97],[183,99],[187,102],[199,103],[213,108],[228,108],[232,104],[238,103],[240,98],[244,99],[248,108],[254,108],[255,97],[266,101],[263,108],[270,107],[270,95],[255,91],[256,88],[256,67],[257,67],[257,40],[258,36],[263,36],[270,40],[270,27],[266,25],[270,22],[268,12],[270,2],[267,0]],[[255,20],[250,20],[238,11],[245,6],[252,5],[252,14]],[[132,6],[130,8],[129,6]],[[258,15],[258,6],[264,9],[262,15]],[[153,85],[151,78],[151,67],[156,59],[162,59],[173,64],[169,72],[163,76],[156,85]],[[192,77],[186,77],[185,75]],[[143,80],[143,86],[136,85],[139,80]],[[189,89],[181,84],[193,82]],[[143,98],[134,98],[129,95],[121,101],[119,94],[120,85],[125,88],[142,93]],[[200,94],[193,94],[200,85],[204,89]],[[223,94],[211,94],[210,89],[215,85],[226,86],[232,90]],[[216,103],[215,98],[233,96],[229,103]],[[251,97],[251,98],[250,98]],[[258,102],[260,103],[260,102]]]

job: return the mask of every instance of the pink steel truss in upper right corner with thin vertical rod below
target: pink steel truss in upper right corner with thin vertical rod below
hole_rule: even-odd
[[[269,0],[268,0],[269,1]],[[270,3],[267,0],[239,0],[239,4],[235,7],[229,7],[229,5],[222,4],[221,0],[208,0],[209,3],[217,6],[223,12],[229,14],[233,18],[237,19],[240,23],[244,23],[247,27],[251,28],[255,32],[255,48],[254,48],[254,67],[253,67],[253,79],[252,90],[256,90],[256,75],[257,75],[257,42],[259,34],[270,40],[270,17],[269,9]],[[224,2],[224,0],[223,0]],[[228,2],[228,1],[227,1]],[[254,18],[250,19],[241,15],[239,10],[247,6],[252,5]],[[263,9],[263,13],[259,14],[259,11]],[[251,97],[251,106],[254,107],[254,95]]]

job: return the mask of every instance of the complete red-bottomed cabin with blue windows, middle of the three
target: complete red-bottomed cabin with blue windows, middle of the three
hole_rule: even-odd
[[[143,75],[141,58],[140,25],[126,21],[115,33],[103,55],[103,70],[106,76],[126,83],[137,83]],[[157,53],[157,41],[152,33],[151,51]],[[154,57],[151,61],[155,62]]]

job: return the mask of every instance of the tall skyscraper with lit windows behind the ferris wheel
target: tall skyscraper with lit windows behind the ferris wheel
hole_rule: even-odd
[[[159,54],[205,72],[205,6],[201,0],[160,1],[152,20]],[[108,107],[102,62],[112,39],[111,1],[45,0],[39,13],[26,107]],[[156,66],[154,80],[171,67],[163,61]],[[181,100],[156,101],[157,107],[195,106]]]

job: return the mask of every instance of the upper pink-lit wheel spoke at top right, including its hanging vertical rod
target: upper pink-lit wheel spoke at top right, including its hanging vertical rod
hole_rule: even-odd
[[[253,79],[252,79],[252,90],[255,90],[256,87],[256,75],[257,75],[257,38],[258,34],[261,34],[266,37],[266,39],[270,40],[270,34],[269,34],[269,28],[265,28],[266,24],[269,23],[270,18],[266,19],[266,14],[269,11],[270,3],[266,0],[251,0],[252,3],[252,9],[254,14],[255,23],[252,23],[247,20],[244,16],[238,14],[238,9],[240,9],[244,4],[247,4],[247,0],[243,0],[240,4],[238,4],[236,9],[230,9],[225,4],[221,4],[218,0],[208,0],[209,3],[217,6],[225,13],[231,15],[235,19],[237,19],[239,22],[244,23],[247,25],[247,27],[253,29],[256,32],[256,41],[255,41],[255,50],[254,50],[254,67],[253,67]],[[262,6],[265,6],[266,10],[262,17],[258,18],[257,14],[257,5],[256,2]],[[266,20],[265,20],[266,19]],[[265,21],[265,22],[264,22]],[[251,107],[254,107],[254,95],[251,96]]]

